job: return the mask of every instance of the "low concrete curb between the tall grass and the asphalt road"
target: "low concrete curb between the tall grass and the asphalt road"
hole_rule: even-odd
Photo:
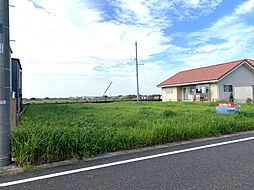
[[[254,130],[245,131],[245,132],[238,132],[238,133],[233,133],[233,134],[225,134],[225,135],[220,135],[220,136],[213,136],[213,137],[203,137],[203,138],[191,139],[191,140],[187,140],[187,141],[177,141],[177,142],[173,142],[173,143],[148,146],[148,147],[144,147],[144,148],[138,148],[138,149],[132,149],[132,150],[122,150],[122,151],[117,151],[117,152],[99,154],[97,156],[87,158],[87,159],[81,160],[81,161],[78,161],[76,159],[71,159],[71,160],[65,160],[65,161],[60,161],[60,162],[54,162],[54,163],[50,163],[50,164],[29,166],[28,168],[18,167],[18,166],[15,166],[14,164],[12,164],[10,166],[0,167],[0,176],[16,175],[16,174],[20,174],[20,173],[24,173],[24,172],[29,172],[29,171],[37,171],[37,170],[65,166],[65,165],[70,165],[70,164],[75,164],[75,163],[80,163],[80,162],[88,162],[88,161],[92,161],[92,160],[105,159],[105,158],[115,157],[115,156],[124,155],[124,154],[144,152],[144,151],[149,151],[149,150],[168,148],[168,147],[174,147],[174,146],[178,146],[178,145],[191,144],[191,143],[203,142],[203,141],[209,141],[209,140],[216,140],[216,139],[221,139],[221,138],[225,138],[225,137],[234,137],[234,136],[238,136],[238,135],[246,135],[246,134],[252,134],[252,133],[254,133]]]

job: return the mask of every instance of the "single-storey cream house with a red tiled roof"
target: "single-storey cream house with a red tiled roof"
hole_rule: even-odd
[[[243,59],[181,71],[161,82],[162,101],[246,102],[254,96],[254,61]]]

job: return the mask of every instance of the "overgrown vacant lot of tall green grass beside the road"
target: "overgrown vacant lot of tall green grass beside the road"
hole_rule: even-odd
[[[254,106],[217,115],[215,103],[32,105],[12,133],[20,165],[254,129]]]

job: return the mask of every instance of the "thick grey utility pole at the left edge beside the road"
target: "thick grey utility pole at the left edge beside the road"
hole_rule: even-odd
[[[9,0],[0,0],[0,166],[11,163]]]

